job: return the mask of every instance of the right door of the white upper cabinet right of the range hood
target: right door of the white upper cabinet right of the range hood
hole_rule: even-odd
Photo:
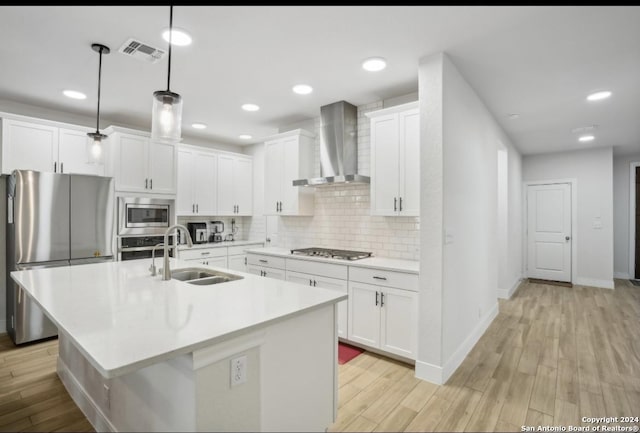
[[[400,216],[420,215],[420,114],[419,110],[399,113],[400,124]]]

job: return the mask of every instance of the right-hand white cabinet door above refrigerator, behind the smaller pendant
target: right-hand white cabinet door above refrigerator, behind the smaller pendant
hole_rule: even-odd
[[[73,174],[91,174],[104,176],[104,164],[91,164],[87,155],[87,145],[91,139],[85,131],[60,128],[58,136],[58,172]],[[106,158],[106,147],[102,143],[102,158]]]

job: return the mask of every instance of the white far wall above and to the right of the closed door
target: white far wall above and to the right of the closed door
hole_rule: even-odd
[[[529,155],[522,167],[525,182],[576,179],[577,269],[572,269],[572,282],[613,288],[612,148]],[[594,228],[598,221],[602,228]]]

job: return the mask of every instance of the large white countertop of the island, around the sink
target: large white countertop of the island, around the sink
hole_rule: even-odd
[[[241,280],[198,286],[151,277],[151,259],[14,271],[12,278],[105,377],[193,352],[347,294],[213,266]],[[162,266],[162,260],[156,260]],[[171,259],[171,269],[193,264]]]

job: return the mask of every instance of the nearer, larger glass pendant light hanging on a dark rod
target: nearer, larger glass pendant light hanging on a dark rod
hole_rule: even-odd
[[[173,38],[173,5],[169,11],[169,67],[167,71],[167,90],[153,92],[153,111],[151,113],[151,139],[175,143],[181,140],[182,97],[170,90],[171,81],[171,45]]]

